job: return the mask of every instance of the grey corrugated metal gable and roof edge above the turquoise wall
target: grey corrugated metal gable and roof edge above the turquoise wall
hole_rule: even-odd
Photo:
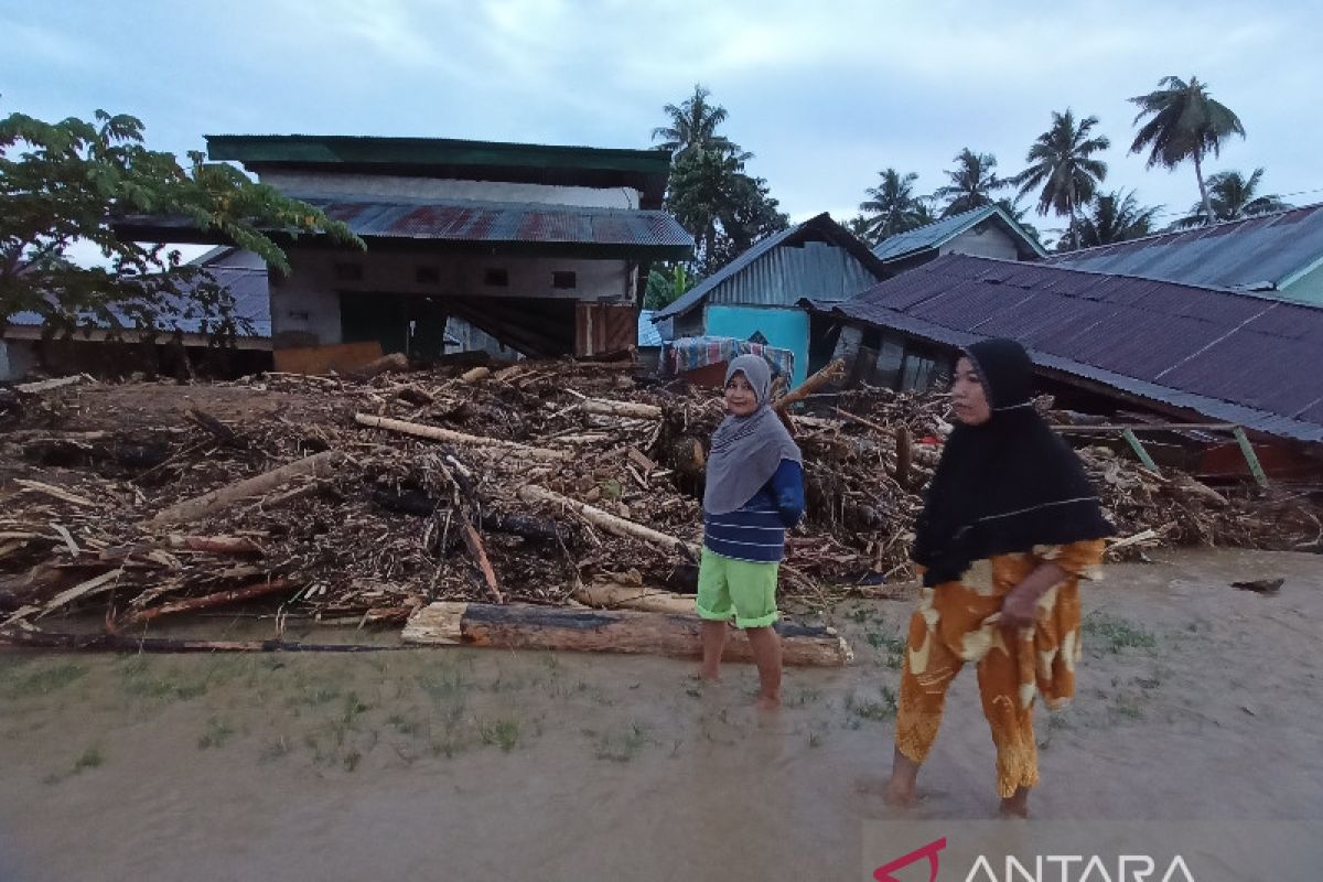
[[[814,234],[827,241],[808,239]],[[802,298],[844,300],[884,275],[868,246],[823,213],[755,242],[675,303],[658,309],[652,320],[683,315],[704,300],[757,305],[790,305]]]

